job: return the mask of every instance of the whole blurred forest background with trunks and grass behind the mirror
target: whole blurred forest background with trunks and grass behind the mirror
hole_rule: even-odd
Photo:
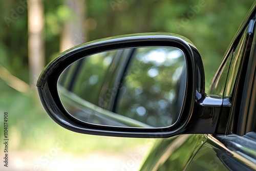
[[[62,129],[40,104],[35,87],[39,73],[58,53],[84,42],[120,34],[171,32],[187,37],[198,48],[207,69],[207,89],[252,4],[231,0],[1,0],[0,126],[8,112],[10,153],[36,152],[37,158],[63,138],[67,143],[61,152],[72,155],[104,151],[124,156],[145,146],[151,140],[88,136]],[[1,140],[2,136],[1,132]]]

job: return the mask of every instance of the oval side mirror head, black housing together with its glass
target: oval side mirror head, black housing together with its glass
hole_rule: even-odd
[[[59,125],[120,137],[187,132],[199,118],[198,101],[206,98],[197,49],[182,36],[160,33],[74,47],[49,63],[37,87],[45,110]]]

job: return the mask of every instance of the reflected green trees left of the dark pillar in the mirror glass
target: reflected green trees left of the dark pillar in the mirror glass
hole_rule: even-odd
[[[98,105],[98,95],[115,53],[116,51],[102,52],[72,63],[59,78],[66,80],[66,84],[62,86]],[[71,69],[73,70],[70,71]],[[72,75],[72,78],[65,77],[66,74]]]

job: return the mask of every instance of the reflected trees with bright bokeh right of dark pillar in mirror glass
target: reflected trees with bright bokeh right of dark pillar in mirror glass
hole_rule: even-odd
[[[138,48],[124,79],[117,113],[153,127],[172,125],[181,110],[177,103],[180,81],[186,79],[181,77],[184,70],[185,58],[179,49]]]

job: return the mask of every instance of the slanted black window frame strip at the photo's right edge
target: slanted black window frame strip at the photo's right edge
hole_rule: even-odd
[[[230,117],[228,121],[228,127],[225,135],[229,134],[237,134],[239,136],[243,136],[250,131],[246,131],[247,125],[247,116],[248,112],[246,112],[246,108],[248,107],[248,97],[245,94],[248,94],[250,91],[248,90],[251,87],[250,78],[246,78],[251,69],[248,68],[250,64],[249,60],[253,59],[252,49],[255,49],[255,18],[250,20],[248,25],[248,29],[246,32],[246,40],[244,42],[245,49],[243,50],[243,56],[240,62],[239,71],[236,76],[236,81],[234,83],[233,91],[230,97],[231,109],[230,109]],[[233,51],[236,51],[237,47],[234,47]],[[234,57],[232,56],[232,60]],[[232,67],[232,66],[230,66]],[[227,80],[226,85],[232,80]]]

